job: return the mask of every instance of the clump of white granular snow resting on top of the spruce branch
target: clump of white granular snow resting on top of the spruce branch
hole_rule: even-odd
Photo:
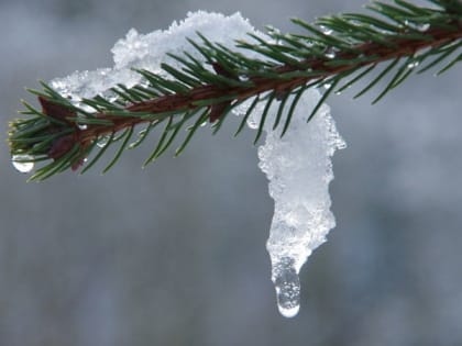
[[[205,62],[204,56],[187,41],[191,38],[200,42],[197,32],[206,34],[212,42],[229,47],[233,47],[234,41],[245,37],[248,33],[258,34],[240,13],[226,16],[204,11],[189,12],[184,21],[174,22],[167,30],[140,34],[131,29],[112,48],[114,60],[112,68],[76,71],[68,77],[52,80],[51,87],[76,103],[81,98],[92,98],[97,94],[110,99],[113,94],[109,90],[117,83],[130,88],[142,81],[142,77],[133,71],[133,68],[158,74],[163,74],[161,70],[163,63],[179,68],[180,64],[166,53],[183,55],[186,51],[199,62]]]

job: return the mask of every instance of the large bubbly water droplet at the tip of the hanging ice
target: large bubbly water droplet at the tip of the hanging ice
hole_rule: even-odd
[[[272,277],[276,289],[277,306],[285,317],[294,317],[300,310],[300,279],[294,259],[283,257],[273,266]]]

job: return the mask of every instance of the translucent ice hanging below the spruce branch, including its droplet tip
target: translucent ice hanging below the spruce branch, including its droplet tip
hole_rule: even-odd
[[[308,89],[293,114],[289,130],[280,138],[266,121],[266,142],[258,148],[260,168],[270,180],[274,215],[266,248],[272,261],[280,313],[295,316],[300,304],[298,272],[311,252],[326,242],[334,227],[330,211],[329,182],[333,179],[331,156],[345,146],[336,130],[330,109],[323,104],[307,124],[320,93]],[[270,114],[275,116],[277,108]],[[249,119],[254,129],[258,110]]]

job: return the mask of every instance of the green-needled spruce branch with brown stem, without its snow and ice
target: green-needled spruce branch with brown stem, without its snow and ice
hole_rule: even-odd
[[[273,129],[283,126],[283,136],[307,88],[327,88],[309,121],[332,92],[342,92],[374,70],[375,77],[354,98],[388,78],[375,103],[413,74],[438,67],[440,75],[462,60],[462,2],[429,2],[432,7],[402,0],[373,2],[367,5],[373,14],[344,13],[320,18],[314,24],[294,19],[305,34],[267,27],[268,40],[250,35],[250,40],[237,42],[237,47],[258,53],[261,58],[234,52],[198,33],[199,40],[189,42],[206,64],[187,52],[169,54],[182,68],[163,64],[167,77],[139,69],[142,82],[131,88],[113,87],[112,99],[97,96],[76,103],[42,82],[42,90],[29,90],[37,96],[41,110],[22,101],[25,110],[20,113],[29,116],[10,124],[11,155],[16,163],[43,161],[31,180],[44,180],[69,168],[84,166],[85,172],[110,146],[120,143],[106,172],[127,148],[138,147],[163,124],[147,165],[164,154],[188,124],[175,155],[187,147],[201,124],[211,122],[213,133],[218,132],[227,115],[245,101],[250,107],[237,134],[256,104],[265,102],[256,143],[272,104],[278,103]],[[140,125],[144,129],[134,139]],[[91,159],[84,164],[87,157]]]

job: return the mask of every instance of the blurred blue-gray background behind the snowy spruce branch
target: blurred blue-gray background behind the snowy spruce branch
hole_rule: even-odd
[[[349,144],[334,157],[338,226],[301,270],[293,320],[270,281],[273,204],[254,134],[233,139],[237,120],[144,170],[151,143],[105,177],[26,183],[10,165],[7,124],[33,101],[23,88],[112,66],[130,27],[202,9],[287,31],[290,16],[362,3],[0,1],[0,345],[462,345],[461,67],[374,107],[372,94],[331,98]]]

